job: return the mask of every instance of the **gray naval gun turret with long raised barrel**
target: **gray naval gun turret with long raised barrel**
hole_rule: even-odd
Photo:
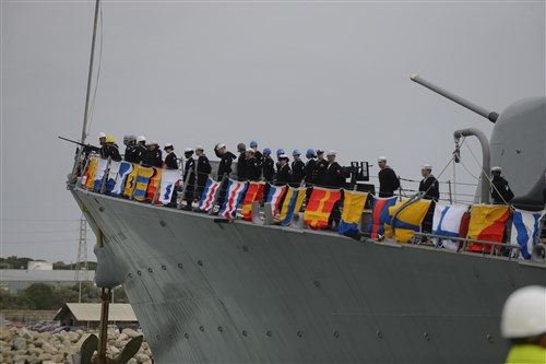
[[[464,99],[417,74],[412,81],[466,107],[494,122],[489,142],[478,137],[484,153],[483,168],[502,167],[515,197],[510,201],[515,208],[529,211],[543,210],[546,204],[546,96],[527,97],[509,105],[502,113],[487,110]],[[468,132],[470,131],[470,132]],[[464,129],[465,136],[479,130]],[[461,130],[455,131],[455,140]],[[490,164],[486,154],[490,154]],[[489,201],[489,183],[482,178],[482,202]],[[484,196],[487,193],[487,197]]]

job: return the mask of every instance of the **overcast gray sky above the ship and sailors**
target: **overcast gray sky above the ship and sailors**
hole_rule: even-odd
[[[74,148],[57,136],[81,134],[93,11],[1,1],[2,257],[76,260]],[[423,163],[448,164],[453,130],[492,125],[410,74],[497,111],[545,94],[544,1],[105,1],[103,20],[91,142],[134,133],[214,155],[217,142],[256,139],[333,149],[342,164],[387,155],[418,179]],[[441,179],[452,178],[449,167]]]

